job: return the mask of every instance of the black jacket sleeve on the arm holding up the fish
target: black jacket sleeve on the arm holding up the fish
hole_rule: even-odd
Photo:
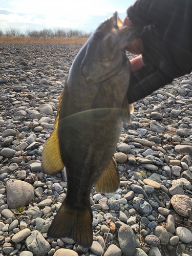
[[[192,0],[137,0],[127,9],[146,64],[131,75],[129,103],[192,70]]]

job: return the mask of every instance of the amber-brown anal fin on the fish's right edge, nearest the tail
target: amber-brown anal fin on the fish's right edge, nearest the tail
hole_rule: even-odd
[[[115,160],[112,158],[108,169],[96,181],[95,189],[100,193],[113,193],[119,188],[120,178]]]

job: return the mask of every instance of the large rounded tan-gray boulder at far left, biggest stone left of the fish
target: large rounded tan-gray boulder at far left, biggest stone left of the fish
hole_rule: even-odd
[[[22,204],[27,205],[34,199],[34,188],[31,184],[20,180],[7,182],[7,204],[10,209]]]

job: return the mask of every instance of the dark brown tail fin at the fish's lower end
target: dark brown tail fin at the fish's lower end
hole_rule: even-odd
[[[90,248],[93,243],[91,207],[74,210],[66,200],[63,201],[55,216],[47,236],[49,238],[71,238],[78,245]]]

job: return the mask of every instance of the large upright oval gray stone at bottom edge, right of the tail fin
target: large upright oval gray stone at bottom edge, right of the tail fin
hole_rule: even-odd
[[[136,239],[133,229],[128,225],[122,225],[118,233],[119,246],[124,256],[133,256],[136,251]]]

